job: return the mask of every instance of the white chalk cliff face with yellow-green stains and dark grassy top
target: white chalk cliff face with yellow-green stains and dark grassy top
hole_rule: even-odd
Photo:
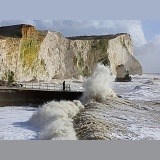
[[[142,74],[128,34],[65,38],[30,25],[0,27],[1,77],[11,70],[18,81],[78,78],[91,74],[98,62],[109,65],[114,74],[121,64],[130,74]]]

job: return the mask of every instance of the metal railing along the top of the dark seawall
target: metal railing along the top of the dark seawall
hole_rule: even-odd
[[[63,90],[63,84],[55,83],[34,83],[34,82],[16,82],[18,88],[36,89],[36,90]],[[70,91],[70,84],[65,85],[65,91]]]

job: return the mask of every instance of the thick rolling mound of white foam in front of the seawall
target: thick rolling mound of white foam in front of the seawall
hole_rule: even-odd
[[[40,107],[30,121],[41,129],[39,139],[76,139],[73,117],[84,108],[80,101],[51,101]]]

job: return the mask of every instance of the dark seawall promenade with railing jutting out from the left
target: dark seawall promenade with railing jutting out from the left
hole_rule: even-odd
[[[76,100],[83,92],[72,91],[70,85],[52,83],[17,83],[18,87],[0,86],[0,107],[35,106],[38,107],[52,100]]]

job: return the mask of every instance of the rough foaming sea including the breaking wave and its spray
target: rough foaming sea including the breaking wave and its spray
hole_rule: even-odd
[[[90,77],[65,81],[84,92],[79,100],[0,107],[0,140],[160,140],[159,73],[115,82],[98,64]]]

